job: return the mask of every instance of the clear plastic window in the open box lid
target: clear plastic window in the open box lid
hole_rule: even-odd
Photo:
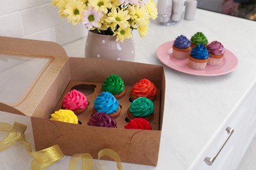
[[[21,101],[49,62],[47,58],[0,54],[0,102],[15,105]]]

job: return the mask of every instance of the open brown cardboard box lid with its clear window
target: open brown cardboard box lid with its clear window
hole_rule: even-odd
[[[67,61],[54,42],[0,37],[0,110],[32,116]]]

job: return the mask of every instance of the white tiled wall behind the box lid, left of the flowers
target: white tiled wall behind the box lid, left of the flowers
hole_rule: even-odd
[[[83,25],[72,25],[58,15],[51,0],[0,0],[0,36],[67,44],[87,35]]]

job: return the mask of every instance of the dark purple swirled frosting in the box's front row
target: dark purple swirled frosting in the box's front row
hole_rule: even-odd
[[[99,112],[92,114],[87,124],[89,126],[116,127],[116,119],[106,114],[106,112]]]

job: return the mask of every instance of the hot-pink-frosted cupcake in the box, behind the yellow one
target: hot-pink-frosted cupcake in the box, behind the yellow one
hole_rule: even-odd
[[[64,95],[62,109],[72,110],[76,115],[82,114],[88,107],[85,95],[77,90],[71,90]]]

